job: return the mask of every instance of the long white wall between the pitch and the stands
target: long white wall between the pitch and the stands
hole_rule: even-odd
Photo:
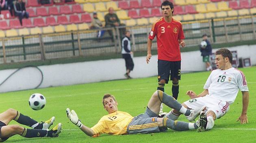
[[[256,45],[243,45],[228,48],[236,50],[238,58],[251,59],[251,64],[256,65]],[[215,52],[217,49],[213,49]],[[182,52],[181,71],[204,71],[200,51]],[[153,55],[147,64],[144,57],[134,58],[135,68],[130,76],[133,78],[144,78],[157,75],[157,56]],[[15,90],[26,90],[37,87],[64,86],[72,84],[83,84],[89,82],[101,82],[107,80],[124,79],[126,72],[124,59],[109,59],[100,61],[87,61],[80,63],[56,64],[39,66],[43,73],[34,67],[20,69],[6,82],[0,85],[0,92]],[[4,81],[17,69],[6,69],[0,71],[0,82]]]

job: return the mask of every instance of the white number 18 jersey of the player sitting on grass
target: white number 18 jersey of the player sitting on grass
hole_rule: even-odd
[[[239,89],[249,91],[245,75],[234,67],[227,70],[213,70],[204,84],[204,89],[208,89],[209,92],[206,96],[226,101],[229,104],[234,102]]]

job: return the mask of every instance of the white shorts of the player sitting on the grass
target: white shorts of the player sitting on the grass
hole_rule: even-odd
[[[206,106],[206,112],[210,110],[213,111],[216,115],[216,118],[221,118],[229,110],[229,104],[226,101],[214,99],[209,95],[190,99],[184,102],[184,104],[186,104],[191,109],[199,109],[202,106]]]

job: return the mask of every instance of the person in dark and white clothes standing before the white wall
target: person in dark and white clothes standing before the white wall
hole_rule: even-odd
[[[125,60],[126,66],[126,74],[124,76],[130,79],[130,71],[132,71],[134,67],[134,63],[132,61],[133,52],[131,51],[131,43],[130,43],[130,31],[125,32],[125,37],[122,39],[122,57]]]

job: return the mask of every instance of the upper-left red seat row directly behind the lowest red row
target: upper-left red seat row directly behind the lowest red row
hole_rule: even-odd
[[[36,11],[33,8],[27,8],[26,11],[29,13],[30,17],[37,17],[37,16],[49,16],[49,15],[61,15],[61,14],[72,14],[72,13],[84,13],[85,11],[82,9],[80,4],[73,4],[72,8],[68,5],[60,6],[59,9],[55,6],[50,7],[37,7]],[[4,15],[4,19],[10,19],[9,10],[1,11]]]

